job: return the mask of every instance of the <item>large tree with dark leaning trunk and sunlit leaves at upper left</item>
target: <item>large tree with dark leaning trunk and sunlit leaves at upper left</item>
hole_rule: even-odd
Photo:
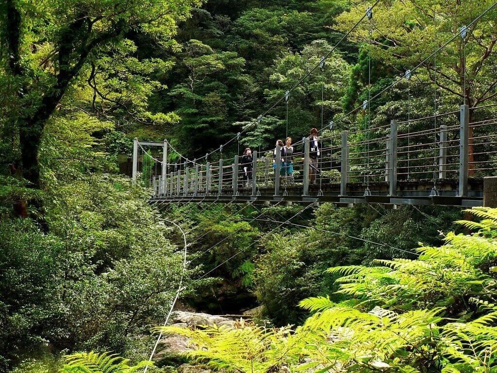
[[[22,174],[40,187],[38,152],[47,121],[63,98],[88,77],[90,60],[132,31],[170,41],[175,21],[198,0],[4,1],[0,7],[2,97],[9,125],[17,128]],[[98,65],[97,61],[94,61]],[[91,74],[89,74],[91,78]],[[90,79],[91,81],[91,79]]]

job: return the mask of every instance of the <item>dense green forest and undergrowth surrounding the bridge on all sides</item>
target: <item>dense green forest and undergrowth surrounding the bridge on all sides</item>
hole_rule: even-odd
[[[269,164],[313,127],[361,142],[427,117],[399,128],[436,144],[464,103],[488,139],[469,176],[496,175],[495,5],[2,0],[0,372],[495,372],[495,209],[158,205],[159,161],[130,178],[135,138],[167,139],[171,169],[246,147]],[[236,320],[161,327],[171,310]]]

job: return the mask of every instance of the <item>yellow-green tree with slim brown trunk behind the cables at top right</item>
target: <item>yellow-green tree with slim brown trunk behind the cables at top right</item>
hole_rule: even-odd
[[[497,24],[494,7],[468,28],[463,39],[457,37],[431,57],[459,28],[469,25],[493,1],[392,1],[379,3],[373,10],[370,41],[369,23],[352,32],[353,40],[370,43],[372,58],[404,72],[421,64],[414,73],[418,84],[433,85],[452,98],[453,104],[467,103],[470,123],[475,107],[497,96]],[[338,27],[348,30],[363,16],[370,4],[359,1],[338,18]],[[435,59],[436,58],[436,59]],[[425,61],[426,60],[426,61]],[[404,74],[404,73],[402,73]],[[473,127],[470,127],[469,167],[473,175]]]

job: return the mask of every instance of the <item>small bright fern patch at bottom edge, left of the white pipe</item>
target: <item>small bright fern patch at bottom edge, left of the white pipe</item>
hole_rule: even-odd
[[[153,366],[152,363],[142,361],[135,366],[128,365],[129,360],[110,353],[98,354],[95,352],[77,353],[65,356],[64,373],[133,373]]]

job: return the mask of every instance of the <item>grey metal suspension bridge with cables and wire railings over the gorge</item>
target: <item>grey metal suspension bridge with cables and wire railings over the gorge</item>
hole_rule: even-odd
[[[324,69],[326,59],[362,21],[368,19],[371,29],[373,8],[377,3],[368,7],[363,17],[321,58],[319,64],[261,114],[252,123],[253,126],[257,127],[271,110],[286,102],[288,128],[291,93],[314,72]],[[242,161],[238,155],[240,140],[251,127],[248,126],[219,149],[195,160],[181,155],[166,140],[151,142],[135,139],[133,181],[141,177],[152,190],[150,201],[160,204],[252,201],[333,202],[340,206],[356,203],[481,206],[484,195],[490,195],[497,189],[493,187],[497,183],[494,179],[486,179],[495,176],[497,170],[497,103],[470,106],[464,100],[465,104],[440,113],[440,94],[437,95],[435,81],[431,115],[412,118],[409,97],[407,118],[388,118],[377,126],[372,125],[370,103],[403,81],[409,84],[410,89],[411,77],[431,60],[436,73],[437,54],[458,38],[465,46],[471,26],[496,5],[494,3],[487,8],[470,24],[462,25],[452,38],[391,85],[372,97],[368,93],[368,99],[361,105],[330,121],[326,127],[323,84],[320,155],[318,159],[312,157],[312,140],[309,137],[293,143],[293,175],[290,178],[285,172],[289,160],[284,159],[285,150],[280,146],[266,151],[259,148],[252,152],[249,163]],[[370,86],[369,56],[368,88]],[[357,113],[364,118],[363,129],[346,130],[343,125],[340,130],[336,129],[337,123]],[[224,158],[223,148],[230,144],[233,146],[237,141],[238,154]],[[151,149],[155,149],[155,153]],[[179,162],[168,163],[168,152],[174,153],[176,159],[179,157]],[[250,170],[248,175],[246,169]]]

